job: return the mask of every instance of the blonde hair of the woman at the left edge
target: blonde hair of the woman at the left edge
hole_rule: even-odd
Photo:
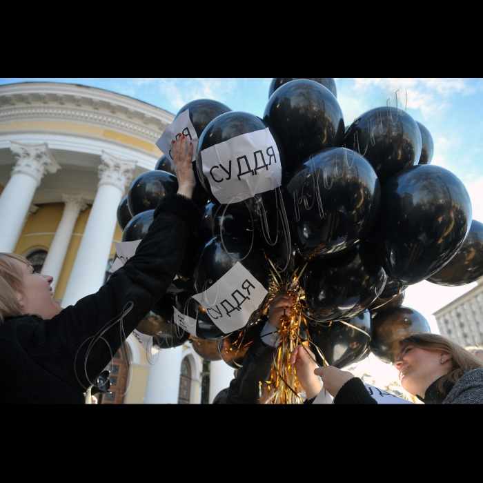
[[[23,293],[23,273],[13,261],[30,265],[26,258],[15,253],[0,253],[0,324],[9,315],[22,315],[17,293]]]

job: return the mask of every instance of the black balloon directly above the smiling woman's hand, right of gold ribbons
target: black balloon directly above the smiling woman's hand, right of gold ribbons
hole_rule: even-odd
[[[345,322],[361,329],[368,335],[340,321],[332,322],[330,326],[308,322],[309,340],[321,350],[330,366],[339,369],[362,359],[373,334],[371,314],[368,311],[355,315]],[[315,354],[317,362],[323,366],[324,360],[313,344],[310,346],[311,351]]]

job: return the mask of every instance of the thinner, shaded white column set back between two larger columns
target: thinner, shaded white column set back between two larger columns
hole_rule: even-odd
[[[62,270],[63,261],[66,258],[75,222],[77,217],[79,217],[79,213],[87,208],[81,196],[62,195],[62,201],[65,204],[62,218],[42,267],[42,273],[54,277],[54,281],[50,284],[54,292]]]

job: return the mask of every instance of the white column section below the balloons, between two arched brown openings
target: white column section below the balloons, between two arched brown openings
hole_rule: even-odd
[[[151,356],[144,404],[178,404],[182,359],[183,346]]]

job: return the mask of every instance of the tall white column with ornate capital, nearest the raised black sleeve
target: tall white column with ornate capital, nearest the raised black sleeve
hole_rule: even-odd
[[[97,194],[90,209],[86,229],[75,258],[62,306],[97,292],[106,275],[106,264],[116,228],[117,206],[132,181],[135,161],[127,161],[103,151],[99,166]]]

